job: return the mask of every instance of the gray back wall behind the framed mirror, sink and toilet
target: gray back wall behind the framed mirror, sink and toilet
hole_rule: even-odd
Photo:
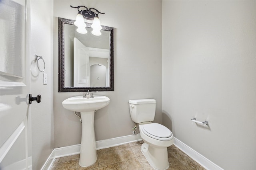
[[[58,17],[76,19],[72,6],[96,8],[101,25],[115,28],[113,92],[97,92],[110,104],[95,114],[96,141],[132,135],[128,100],[154,98],[155,122],[162,123],[162,2],[154,1],[62,1],[54,0],[54,141],[55,147],[81,143],[82,126],[62,101],[80,93],[58,93]],[[152,13],[152,11],[156,11]]]

